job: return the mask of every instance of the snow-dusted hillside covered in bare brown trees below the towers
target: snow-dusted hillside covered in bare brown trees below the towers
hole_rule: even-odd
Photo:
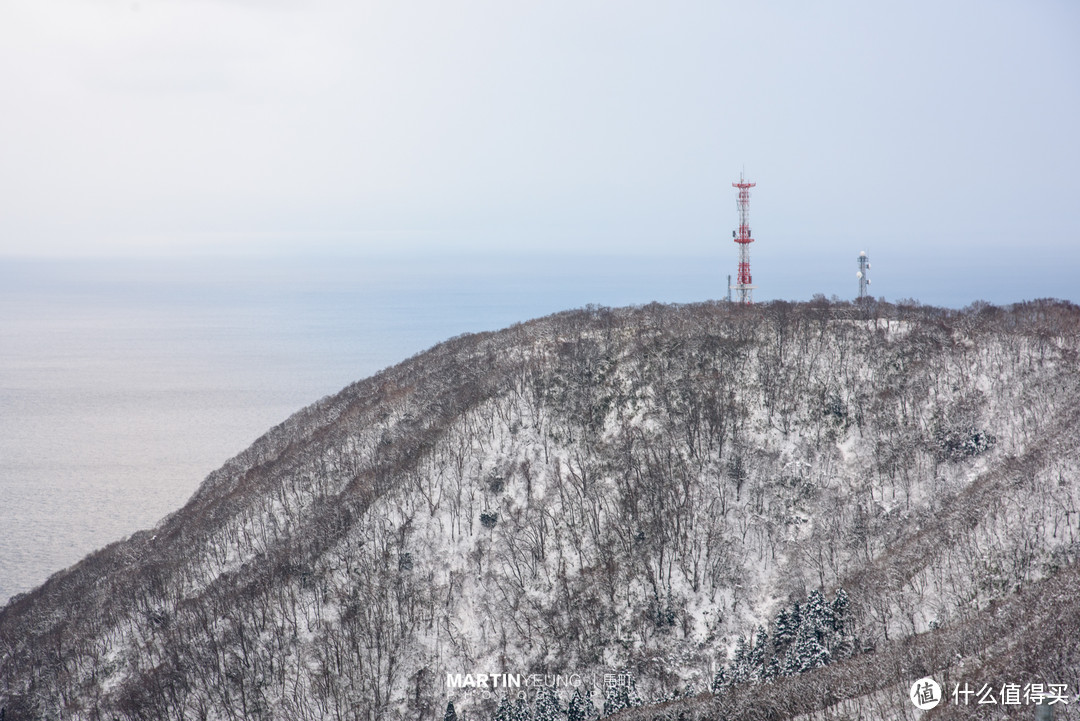
[[[1078,343],[1057,301],[822,298],[451,339],[12,599],[0,707],[901,719],[923,676],[1075,706]],[[480,674],[581,685],[449,685]]]

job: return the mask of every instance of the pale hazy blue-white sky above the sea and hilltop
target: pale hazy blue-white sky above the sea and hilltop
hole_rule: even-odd
[[[0,0],[0,258],[734,272],[744,172],[775,276],[1080,300],[1066,0]]]

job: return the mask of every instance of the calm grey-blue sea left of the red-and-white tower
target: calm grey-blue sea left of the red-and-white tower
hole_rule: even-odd
[[[0,259],[0,604],[151,528],[293,412],[447,338],[720,298],[719,260]]]

